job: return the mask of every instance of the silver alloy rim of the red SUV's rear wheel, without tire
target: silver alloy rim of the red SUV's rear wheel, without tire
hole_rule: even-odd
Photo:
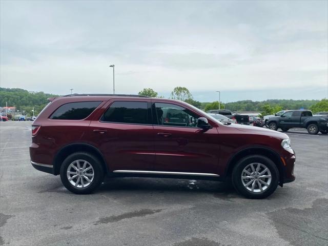
[[[67,168],[67,179],[76,188],[90,186],[93,178],[93,167],[86,160],[74,160]]]

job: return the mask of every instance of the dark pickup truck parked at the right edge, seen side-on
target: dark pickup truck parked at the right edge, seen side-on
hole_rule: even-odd
[[[328,132],[327,116],[312,116],[310,110],[287,110],[280,116],[271,117],[268,121],[271,130],[280,128],[282,131],[288,131],[291,128],[306,128],[310,134],[322,134]]]

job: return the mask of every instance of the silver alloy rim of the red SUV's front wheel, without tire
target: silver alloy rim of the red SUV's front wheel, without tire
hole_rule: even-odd
[[[262,163],[251,163],[241,172],[241,182],[243,186],[254,193],[267,190],[271,184],[271,172]]]

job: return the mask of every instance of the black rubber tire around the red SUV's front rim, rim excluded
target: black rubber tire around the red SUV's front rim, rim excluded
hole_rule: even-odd
[[[269,186],[265,188],[263,191],[255,191],[254,189],[255,192],[252,192],[248,190],[242,183],[241,175],[243,174],[243,170],[251,163],[261,163],[261,165],[264,165],[266,168],[268,168],[271,173],[271,182]],[[259,178],[255,178],[255,179],[259,179]],[[269,182],[268,179],[264,179],[263,181]],[[248,182],[248,180],[246,182]],[[258,184],[260,182],[258,180],[256,181],[254,180],[254,182],[255,185],[257,184],[257,188],[259,188]],[[249,155],[240,159],[236,163],[236,166],[232,171],[232,183],[234,188],[237,190],[237,192],[239,192],[241,195],[247,198],[252,198],[252,199],[265,198],[270,196],[277,189],[279,183],[279,171],[275,163],[268,157],[262,155]],[[256,190],[260,190],[260,189],[256,189]]]

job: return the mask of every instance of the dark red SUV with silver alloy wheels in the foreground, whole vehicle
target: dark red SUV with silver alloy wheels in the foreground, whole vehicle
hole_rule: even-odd
[[[104,175],[225,180],[250,198],[295,180],[295,153],[280,132],[222,124],[181,101],[137,95],[68,95],[32,125],[35,169],[60,174],[71,192]]]

